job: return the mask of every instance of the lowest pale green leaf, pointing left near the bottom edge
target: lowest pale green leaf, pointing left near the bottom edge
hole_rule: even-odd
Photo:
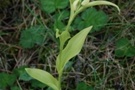
[[[25,69],[27,73],[34,79],[52,87],[54,90],[59,90],[58,81],[50,73],[40,70],[40,69]]]

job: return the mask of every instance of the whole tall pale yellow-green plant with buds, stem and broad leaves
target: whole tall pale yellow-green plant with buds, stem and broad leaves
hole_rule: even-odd
[[[50,1],[54,1],[54,0],[49,0],[49,2]],[[60,2],[57,2],[57,3],[59,4]],[[118,11],[120,11],[117,5],[108,1],[89,2],[89,0],[83,0],[83,1],[70,0],[71,10],[70,10],[70,18],[69,18],[68,24],[63,31],[56,29],[56,38],[59,38],[59,41],[60,41],[59,55],[57,56],[57,59],[56,59],[56,69],[58,71],[58,78],[53,77],[47,71],[43,71],[40,69],[26,68],[27,73],[31,77],[50,86],[54,90],[61,90],[62,74],[63,74],[65,65],[68,63],[68,61],[71,58],[76,56],[81,51],[85,38],[87,34],[90,32],[90,30],[92,29],[92,26],[89,26],[81,30],[79,33],[77,33],[71,38],[70,32],[69,32],[71,23],[73,22],[75,17],[79,13],[81,13],[83,10],[85,10],[88,7],[92,7],[96,5],[112,5],[116,7]],[[46,8],[46,10],[48,9]],[[53,8],[51,12],[53,12],[54,10],[55,8]]]

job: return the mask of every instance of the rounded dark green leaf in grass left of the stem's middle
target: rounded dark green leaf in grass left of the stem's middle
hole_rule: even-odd
[[[40,26],[30,27],[21,32],[20,45],[23,48],[32,48],[34,44],[41,45],[44,41],[45,28]]]

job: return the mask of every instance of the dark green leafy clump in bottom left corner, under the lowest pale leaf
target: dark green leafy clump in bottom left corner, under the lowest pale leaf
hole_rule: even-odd
[[[15,68],[12,73],[0,73],[0,90],[22,90],[21,82],[30,83],[31,89],[45,88],[45,84],[33,79],[25,71],[26,66]]]

